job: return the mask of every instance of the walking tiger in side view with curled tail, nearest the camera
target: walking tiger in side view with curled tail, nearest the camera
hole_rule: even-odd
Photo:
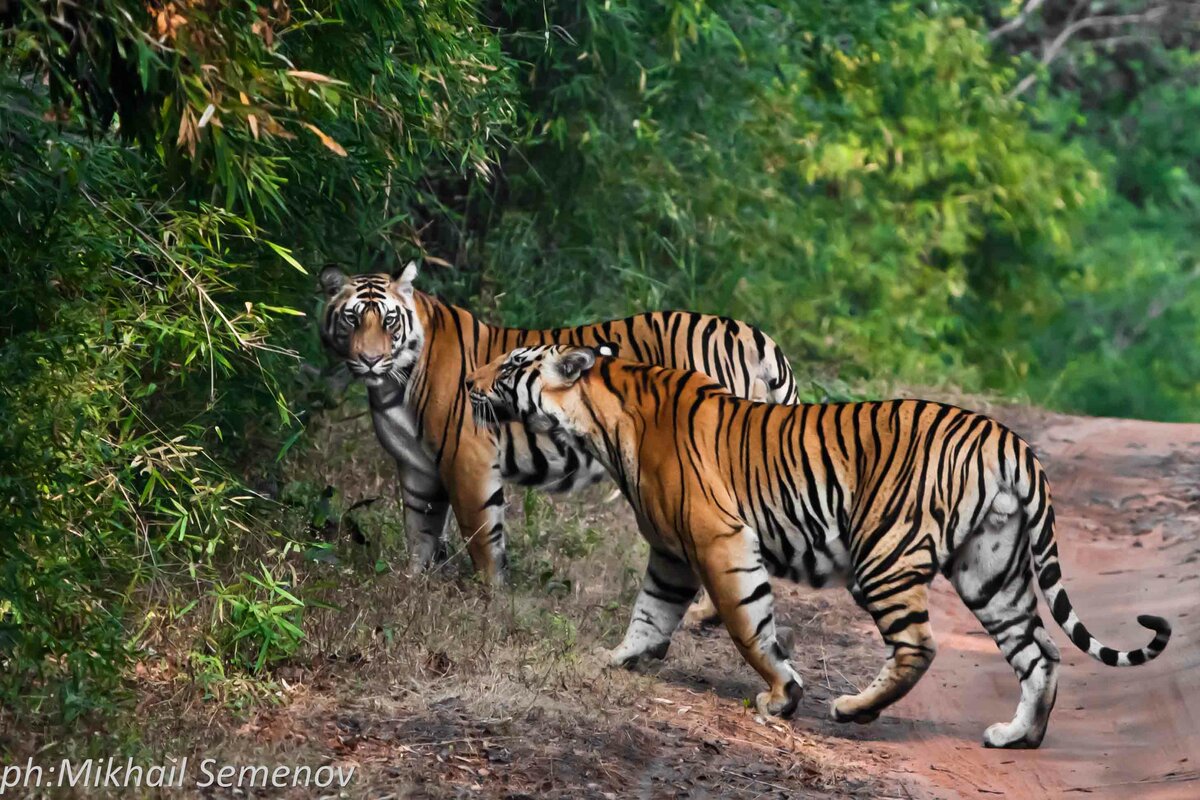
[[[803,681],[776,638],[768,576],[815,588],[850,582],[890,648],[878,675],[833,700],[838,722],[868,723],[904,697],[937,651],[929,584],[941,572],[1020,682],[1012,721],[988,747],[1038,747],[1060,654],[1034,578],[1072,643],[1109,666],[1166,646],[1159,616],[1140,650],[1114,650],[1076,616],[1062,585],[1046,474],[1000,422],[922,399],[770,405],[691,371],[592,348],[515,349],[467,378],[481,422],[516,417],[582,441],[611,473],[649,543],[649,564],[613,666],[662,658],[703,585],[734,645],[766,680],[760,714],[790,717]]]

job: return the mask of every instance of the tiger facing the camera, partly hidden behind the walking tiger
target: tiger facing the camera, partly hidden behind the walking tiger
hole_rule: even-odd
[[[400,467],[415,570],[445,558],[443,531],[452,507],[475,569],[502,581],[503,481],[565,492],[606,474],[575,443],[516,422],[476,427],[463,379],[515,347],[606,344],[624,357],[701,369],[744,397],[796,401],[787,360],[745,323],[665,311],[578,327],[498,327],[414,289],[415,277],[415,263],[398,277],[347,276],[335,266],[319,277],[328,299],[320,337],[367,386],[376,434]],[[701,606],[696,615],[703,616]]]

